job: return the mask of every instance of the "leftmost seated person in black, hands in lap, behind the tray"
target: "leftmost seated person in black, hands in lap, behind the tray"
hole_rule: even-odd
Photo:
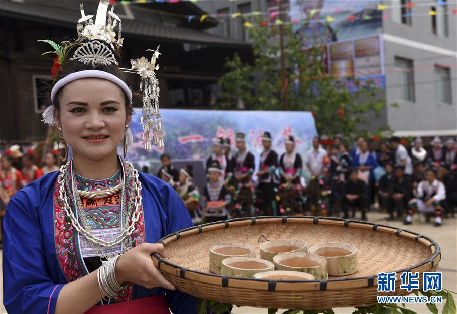
[[[358,208],[362,211],[362,220],[366,221],[367,196],[367,184],[357,177],[357,169],[351,169],[349,171],[349,180],[344,185],[345,206],[343,219],[349,218],[349,209],[352,210],[352,218],[355,218],[355,212]]]

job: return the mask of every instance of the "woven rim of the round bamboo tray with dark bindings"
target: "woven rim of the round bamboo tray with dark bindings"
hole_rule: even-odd
[[[166,246],[168,243],[174,242],[181,237],[186,237],[194,234],[199,234],[204,231],[210,231],[220,228],[230,228],[230,226],[243,226],[243,225],[255,225],[256,223],[282,223],[286,224],[289,222],[307,221],[307,223],[313,224],[326,224],[334,226],[344,226],[348,228],[363,228],[372,229],[373,232],[382,231],[388,233],[394,233],[395,235],[407,239],[414,239],[416,242],[424,246],[428,246],[432,250],[432,256],[425,261],[414,266],[393,270],[390,272],[402,273],[402,272],[419,272],[428,271],[433,269],[434,265],[441,259],[441,252],[439,245],[431,238],[421,235],[419,233],[404,230],[402,228],[379,225],[370,222],[357,221],[353,219],[341,219],[332,217],[310,217],[310,216],[264,216],[264,217],[252,217],[252,218],[236,218],[225,221],[219,221],[214,223],[208,223],[204,225],[198,225],[195,227],[183,229],[175,233],[169,234],[156,243],[161,243]],[[327,280],[268,280],[268,279],[255,279],[255,278],[240,278],[240,277],[228,277],[215,275],[212,273],[202,272],[198,270],[192,270],[174,264],[162,258],[158,253],[153,254],[153,260],[156,266],[163,272],[169,273],[173,276],[178,276],[182,279],[189,279],[194,281],[200,281],[211,285],[217,285],[222,287],[233,287],[233,288],[252,288],[257,290],[267,291],[289,291],[289,290],[339,290],[346,288],[367,288],[373,287],[375,278],[377,275],[341,278],[341,279],[327,279]]]

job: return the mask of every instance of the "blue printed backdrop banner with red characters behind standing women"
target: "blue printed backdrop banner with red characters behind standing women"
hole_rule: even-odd
[[[195,183],[204,184],[204,165],[212,154],[212,139],[230,138],[232,153],[235,152],[235,135],[246,135],[246,146],[255,156],[256,170],[259,166],[263,132],[273,137],[272,148],[281,155],[285,152],[284,140],[288,135],[296,139],[296,151],[304,153],[312,146],[317,135],[314,118],[310,112],[285,111],[221,111],[221,110],[176,110],[161,109],[165,147],[152,151],[143,149],[141,141],[141,109],[136,109],[130,122],[134,143],[129,147],[127,160],[137,169],[149,167],[149,173],[156,174],[160,167],[160,155],[168,153],[173,165],[180,169],[186,164],[194,166]]]

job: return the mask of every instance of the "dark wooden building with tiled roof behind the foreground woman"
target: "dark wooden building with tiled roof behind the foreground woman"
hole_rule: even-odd
[[[85,0],[86,14],[95,14],[97,5],[98,0]],[[123,25],[124,67],[130,67],[130,59],[148,56],[146,50],[160,44],[157,77],[164,108],[210,108],[226,58],[235,52],[251,56],[248,43],[205,31],[217,26],[216,20],[189,22],[189,15],[205,13],[192,2],[118,4],[115,13]],[[51,47],[37,40],[76,38],[79,18],[75,0],[0,1],[2,142],[27,143],[46,137],[41,110],[47,95],[40,91],[40,81],[51,77],[53,57],[41,55]],[[132,79],[139,84],[138,78]]]

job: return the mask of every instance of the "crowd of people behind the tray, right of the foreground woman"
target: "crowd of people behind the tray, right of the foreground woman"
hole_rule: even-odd
[[[271,134],[262,138],[259,168],[246,149],[245,134],[236,134],[236,152],[229,139],[213,140],[206,163],[206,185],[193,183],[191,165],[177,170],[162,155],[157,176],[175,187],[194,223],[257,215],[312,215],[356,217],[379,208],[387,219],[413,222],[416,211],[436,226],[457,206],[457,147],[452,137],[438,137],[431,149],[417,138],[410,151],[398,137],[379,145],[359,138],[348,151],[342,139],[332,143],[313,139],[313,148],[300,155],[295,139],[285,140],[281,156],[271,149]],[[304,171],[307,170],[307,171]],[[253,178],[257,177],[257,180]],[[307,179],[305,179],[307,178]]]

